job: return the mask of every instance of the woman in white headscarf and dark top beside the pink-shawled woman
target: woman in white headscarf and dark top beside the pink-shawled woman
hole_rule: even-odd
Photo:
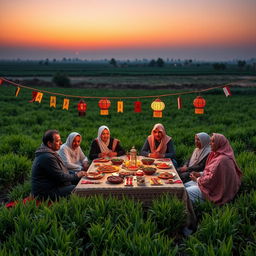
[[[190,181],[190,173],[202,172],[205,167],[206,159],[211,151],[210,136],[205,132],[195,135],[195,146],[190,159],[178,169],[179,176],[183,182]]]

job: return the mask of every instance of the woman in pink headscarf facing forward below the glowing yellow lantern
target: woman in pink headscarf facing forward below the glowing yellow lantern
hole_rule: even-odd
[[[155,124],[151,131],[151,135],[146,139],[140,155],[151,158],[171,158],[176,165],[175,149],[172,137],[166,134],[162,124]]]

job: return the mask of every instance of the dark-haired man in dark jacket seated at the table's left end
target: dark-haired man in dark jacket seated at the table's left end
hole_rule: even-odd
[[[86,172],[69,174],[59,157],[62,142],[57,130],[48,130],[43,143],[35,152],[32,166],[32,194],[40,199],[56,200],[70,195],[75,185]]]

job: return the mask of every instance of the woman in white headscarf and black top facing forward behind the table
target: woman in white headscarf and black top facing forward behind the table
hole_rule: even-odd
[[[89,158],[115,157],[125,154],[118,139],[110,136],[110,130],[107,126],[102,125],[98,130],[98,137],[92,142]]]

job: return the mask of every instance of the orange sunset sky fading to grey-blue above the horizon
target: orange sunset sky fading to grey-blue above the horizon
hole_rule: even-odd
[[[256,0],[0,0],[0,59],[256,57]]]

